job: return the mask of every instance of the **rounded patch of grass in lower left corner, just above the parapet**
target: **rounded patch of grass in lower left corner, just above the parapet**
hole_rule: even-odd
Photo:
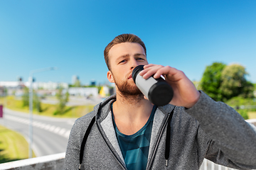
[[[0,136],[0,164],[28,158],[28,142],[22,135],[0,126]]]

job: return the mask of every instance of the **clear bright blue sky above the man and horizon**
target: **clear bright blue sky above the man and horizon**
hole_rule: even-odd
[[[149,63],[199,81],[213,62],[242,64],[256,83],[256,1],[0,1],[0,81],[107,81],[105,46],[134,33]]]

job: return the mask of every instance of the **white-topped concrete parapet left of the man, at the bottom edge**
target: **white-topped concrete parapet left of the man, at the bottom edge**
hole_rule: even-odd
[[[15,162],[0,164],[1,170],[57,170],[63,169],[65,152],[60,154],[51,154],[44,157],[23,159]]]

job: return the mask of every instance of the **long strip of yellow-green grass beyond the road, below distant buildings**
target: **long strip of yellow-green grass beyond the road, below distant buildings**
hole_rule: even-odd
[[[0,104],[4,104],[6,108],[9,108],[14,111],[21,111],[24,113],[29,112],[28,106],[23,107],[21,100],[17,100],[15,96],[7,96],[6,98],[0,98]],[[61,115],[55,115],[56,106],[47,103],[41,103],[42,112],[36,111],[36,108],[33,109],[33,114],[37,115],[46,115],[55,118],[80,118],[82,115],[85,115],[93,110],[94,105],[87,106],[66,106],[65,113]]]

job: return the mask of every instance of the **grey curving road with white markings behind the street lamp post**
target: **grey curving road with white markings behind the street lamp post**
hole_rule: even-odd
[[[76,118],[50,118],[33,115],[33,152],[36,157],[65,152]],[[0,125],[20,132],[28,141],[29,114],[4,108]]]

